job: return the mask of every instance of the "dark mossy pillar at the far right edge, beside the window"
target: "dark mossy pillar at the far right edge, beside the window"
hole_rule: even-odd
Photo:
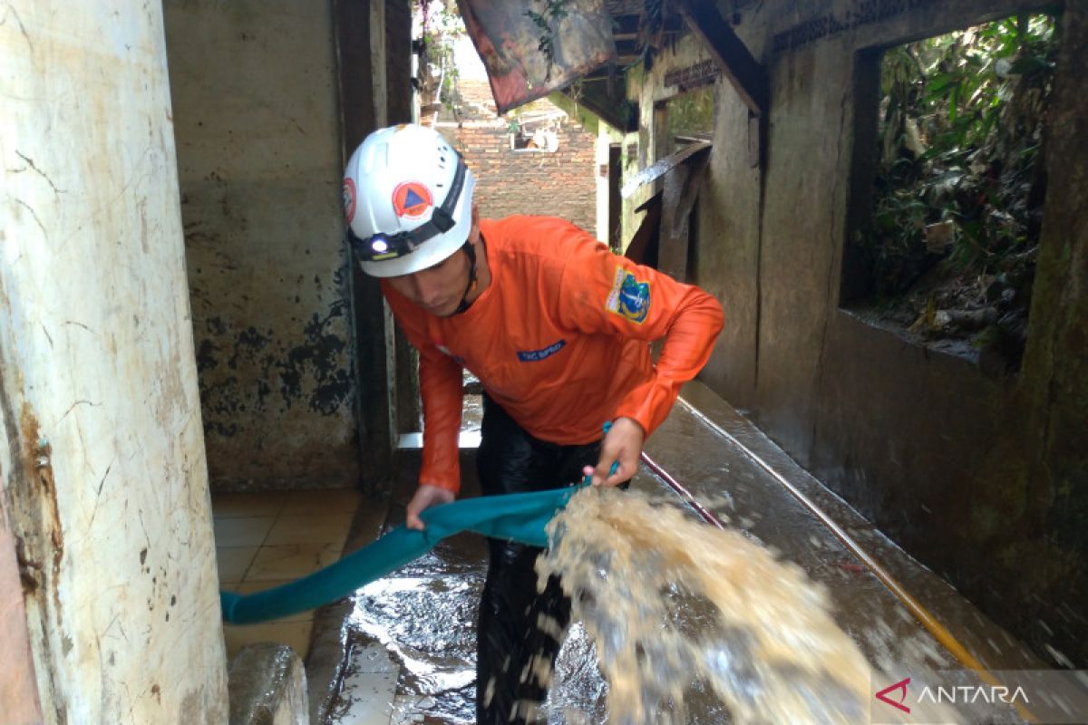
[[[1024,357],[1031,465],[1026,507],[1039,548],[1009,563],[1022,573],[1046,642],[1079,642],[1064,654],[1088,665],[1088,8],[1071,2],[1051,100],[1047,205]],[[1011,552],[1010,552],[1011,553]],[[1030,555],[1025,555],[1030,553]],[[1034,616],[1033,616],[1034,614]],[[1061,645],[1060,645],[1061,647]],[[1065,647],[1068,647],[1066,645]]]

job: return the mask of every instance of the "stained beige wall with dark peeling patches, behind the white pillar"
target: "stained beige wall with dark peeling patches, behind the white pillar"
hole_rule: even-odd
[[[332,3],[164,7],[212,485],[355,485]]]

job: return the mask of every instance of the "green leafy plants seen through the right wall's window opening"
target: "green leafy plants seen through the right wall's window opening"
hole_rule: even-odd
[[[878,296],[939,259],[992,275],[1034,254],[1056,49],[1053,17],[1019,15],[885,53],[874,212],[857,238]],[[951,249],[935,253],[926,229],[948,221]]]

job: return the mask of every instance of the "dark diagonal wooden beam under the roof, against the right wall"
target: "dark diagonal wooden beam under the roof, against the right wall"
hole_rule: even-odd
[[[770,93],[767,68],[752,57],[733,28],[721,17],[713,2],[679,0],[677,9],[691,29],[710,51],[744,104],[756,114],[767,111]]]

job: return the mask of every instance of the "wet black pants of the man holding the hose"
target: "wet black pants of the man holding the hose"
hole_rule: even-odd
[[[559,446],[534,438],[487,396],[477,466],[484,496],[561,488],[582,478],[582,467],[596,465],[599,441]],[[552,577],[536,591],[533,563],[541,549],[487,539],[487,580],[480,600],[477,628],[477,723],[527,723],[527,712],[547,696],[534,676],[533,658],[554,666],[561,645],[537,628],[540,616],[548,629],[565,632],[570,600]]]

